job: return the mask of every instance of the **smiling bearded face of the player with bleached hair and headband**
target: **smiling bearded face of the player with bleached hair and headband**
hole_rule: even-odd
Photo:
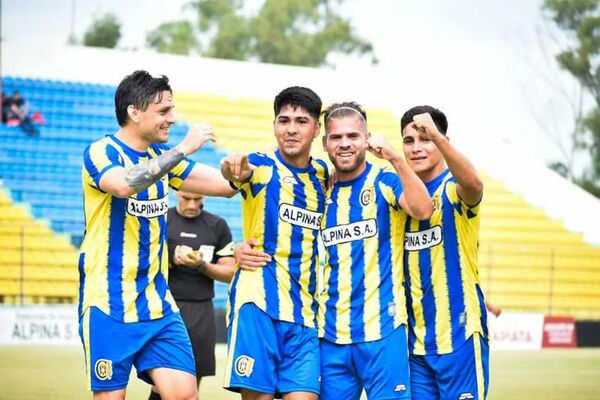
[[[339,176],[358,175],[365,165],[369,133],[358,115],[330,118],[323,147]]]

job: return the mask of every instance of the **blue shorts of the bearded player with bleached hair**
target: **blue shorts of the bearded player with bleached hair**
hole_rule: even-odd
[[[373,342],[321,339],[321,400],[410,399],[406,326]]]

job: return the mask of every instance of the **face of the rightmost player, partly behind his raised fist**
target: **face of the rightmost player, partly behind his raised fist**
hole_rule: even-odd
[[[423,137],[413,123],[404,127],[403,133],[402,149],[408,166],[425,181],[441,173],[445,168],[444,158],[437,146]]]

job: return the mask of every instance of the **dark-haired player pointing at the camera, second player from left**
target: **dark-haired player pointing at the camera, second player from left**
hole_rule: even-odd
[[[274,101],[277,150],[231,155],[221,171],[242,194],[246,240],[266,265],[236,269],[228,303],[227,389],[242,399],[316,400],[319,393],[317,238],[326,164],[311,158],[321,99],[289,87]]]

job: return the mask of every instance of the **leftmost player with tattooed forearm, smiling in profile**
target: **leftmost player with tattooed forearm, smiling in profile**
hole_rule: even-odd
[[[124,399],[132,366],[165,399],[198,397],[190,340],[167,286],[168,187],[235,191],[217,170],[186,159],[215,140],[210,126],[164,145],[173,107],[167,77],[135,71],[115,93],[121,128],[83,155],[79,330],[94,399]]]

